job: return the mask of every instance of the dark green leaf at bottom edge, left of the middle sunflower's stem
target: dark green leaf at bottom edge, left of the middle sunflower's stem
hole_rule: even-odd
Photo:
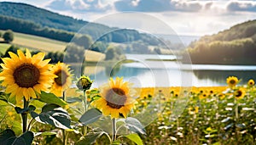
[[[104,132],[95,132],[90,133],[84,137],[81,137],[78,142],[75,143],[75,145],[90,145],[96,142],[96,139],[99,137],[102,137]]]

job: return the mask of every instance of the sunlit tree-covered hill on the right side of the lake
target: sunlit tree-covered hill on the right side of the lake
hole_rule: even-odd
[[[193,64],[256,64],[256,20],[202,36],[187,50]]]

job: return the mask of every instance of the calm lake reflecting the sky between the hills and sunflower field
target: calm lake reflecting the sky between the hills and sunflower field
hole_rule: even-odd
[[[127,59],[137,62],[113,66],[94,66],[90,78],[94,87],[108,82],[110,75],[124,77],[137,87],[155,86],[225,86],[226,78],[235,75],[246,84],[256,80],[256,66],[179,64],[176,61],[150,61],[148,59],[175,59],[170,55],[127,54]],[[91,67],[91,66],[90,66]],[[87,68],[88,69],[88,68]]]

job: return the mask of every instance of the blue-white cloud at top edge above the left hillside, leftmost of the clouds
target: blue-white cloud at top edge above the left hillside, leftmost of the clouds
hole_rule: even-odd
[[[101,0],[53,0],[46,8],[54,10],[71,10],[73,12],[106,12],[111,8],[110,4]]]

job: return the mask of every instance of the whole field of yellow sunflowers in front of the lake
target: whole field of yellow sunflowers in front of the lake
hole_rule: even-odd
[[[74,78],[44,53],[9,53],[1,64],[0,144],[212,144],[256,142],[256,88],[133,88],[123,78]],[[72,84],[75,87],[71,88]]]

